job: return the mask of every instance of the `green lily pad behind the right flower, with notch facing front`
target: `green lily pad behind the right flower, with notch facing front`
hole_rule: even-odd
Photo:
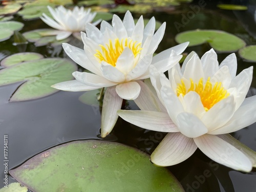
[[[189,41],[188,47],[208,42],[217,52],[236,52],[246,45],[245,41],[236,35],[219,30],[191,30],[179,33],[175,40],[181,44]]]

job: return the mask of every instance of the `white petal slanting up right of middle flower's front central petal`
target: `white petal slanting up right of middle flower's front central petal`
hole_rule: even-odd
[[[127,76],[126,80],[131,81],[133,79],[144,79],[150,77],[148,67],[151,64],[153,54],[145,55],[137,65],[130,71]]]

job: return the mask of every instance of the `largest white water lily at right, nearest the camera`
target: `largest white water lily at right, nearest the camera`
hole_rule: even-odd
[[[230,54],[219,66],[213,49],[201,60],[190,53],[182,68],[176,65],[168,71],[169,79],[151,66],[159,102],[155,98],[153,105],[143,106],[147,111],[119,110],[118,114],[144,129],[169,132],[151,155],[157,165],[180,163],[199,148],[220,164],[250,172],[256,167],[256,153],[228,133],[256,121],[256,96],[245,98],[252,67],[237,76],[236,72],[236,55]],[[162,104],[166,110],[159,107]]]

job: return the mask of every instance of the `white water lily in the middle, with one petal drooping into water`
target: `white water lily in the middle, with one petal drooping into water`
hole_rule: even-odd
[[[127,11],[123,22],[114,15],[112,26],[102,21],[99,30],[88,24],[87,34],[81,33],[84,50],[63,44],[69,57],[92,73],[74,72],[76,80],[57,83],[52,87],[64,91],[107,88],[102,107],[101,137],[112,131],[122,100],[136,99],[143,91],[140,83],[141,79],[150,77],[149,66],[167,71],[179,62],[180,54],[188,45],[175,46],[153,57],[165,30],[164,23],[154,34],[155,25],[153,17],[144,28],[142,16],[135,25],[132,14]]]

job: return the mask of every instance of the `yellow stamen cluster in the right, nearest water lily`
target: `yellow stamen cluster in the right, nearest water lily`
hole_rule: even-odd
[[[186,89],[184,81],[181,80],[181,83],[177,85],[176,91],[177,96],[180,94],[184,96],[189,91],[195,91],[198,93],[205,111],[208,111],[217,102],[229,96],[227,90],[222,87],[221,82],[216,82],[214,86],[212,86],[210,77],[208,77],[205,84],[203,84],[203,78],[199,80],[198,84],[194,83],[194,81],[190,79],[190,88],[188,90]]]

